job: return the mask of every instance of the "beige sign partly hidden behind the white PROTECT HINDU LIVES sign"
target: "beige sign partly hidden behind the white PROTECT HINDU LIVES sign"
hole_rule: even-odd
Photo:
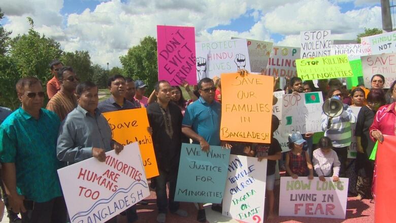
[[[232,37],[231,39],[238,39]],[[251,72],[261,73],[268,65],[272,44],[271,42],[247,39],[250,70]]]

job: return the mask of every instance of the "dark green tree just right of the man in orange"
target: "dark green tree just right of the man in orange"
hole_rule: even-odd
[[[92,81],[92,61],[88,51],[64,52],[60,61],[62,61],[64,66],[73,68],[80,82]]]

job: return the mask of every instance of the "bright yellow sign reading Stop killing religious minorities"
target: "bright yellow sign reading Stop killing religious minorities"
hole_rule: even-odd
[[[296,59],[295,65],[303,81],[353,76],[346,54]]]

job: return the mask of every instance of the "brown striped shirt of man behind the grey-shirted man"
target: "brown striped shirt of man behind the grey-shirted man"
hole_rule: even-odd
[[[48,102],[46,109],[55,112],[59,116],[60,121],[63,121],[66,115],[68,115],[76,107],[76,95],[72,94],[71,97],[69,97],[62,91],[58,91]]]

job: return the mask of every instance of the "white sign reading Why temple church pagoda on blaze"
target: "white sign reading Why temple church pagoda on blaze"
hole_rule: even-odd
[[[267,160],[230,155],[223,215],[243,222],[263,222]]]

